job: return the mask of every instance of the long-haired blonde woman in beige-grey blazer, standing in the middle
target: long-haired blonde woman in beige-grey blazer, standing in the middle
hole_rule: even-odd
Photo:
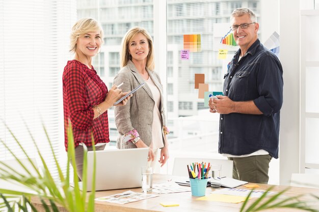
[[[161,149],[158,160],[163,166],[167,159],[166,115],[164,111],[163,86],[154,70],[153,42],[149,33],[141,27],[129,29],[122,39],[121,70],[113,85],[121,86],[123,92],[132,90],[143,82],[122,107],[115,107],[115,124],[119,131],[118,148],[150,147],[148,161],[156,160],[157,149]],[[156,168],[156,161],[151,165]],[[157,163],[158,164],[158,163]],[[158,166],[159,167],[159,166]]]

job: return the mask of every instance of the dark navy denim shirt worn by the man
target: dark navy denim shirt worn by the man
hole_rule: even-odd
[[[240,54],[241,49],[225,74],[224,95],[236,102],[253,100],[263,114],[221,114],[219,153],[240,156],[263,149],[278,158],[282,66],[259,40],[238,62]]]

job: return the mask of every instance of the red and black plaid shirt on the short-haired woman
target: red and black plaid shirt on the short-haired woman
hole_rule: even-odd
[[[108,111],[93,120],[93,105],[105,100],[108,88],[96,74],[93,66],[89,69],[77,60],[68,61],[63,72],[64,144],[67,150],[67,128],[72,124],[74,145],[83,142],[92,146],[91,133],[95,143],[108,143]]]

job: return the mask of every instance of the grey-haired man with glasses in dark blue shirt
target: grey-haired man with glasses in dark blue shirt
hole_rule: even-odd
[[[224,76],[224,96],[209,100],[220,113],[219,153],[234,162],[233,178],[267,184],[272,158],[278,158],[282,66],[258,39],[259,24],[248,8],[230,17],[240,47]]]

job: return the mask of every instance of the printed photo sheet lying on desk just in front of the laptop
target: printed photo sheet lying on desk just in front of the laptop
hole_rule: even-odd
[[[95,200],[103,201],[103,202],[118,203],[118,204],[126,204],[129,202],[136,202],[139,200],[153,198],[153,197],[158,197],[158,195],[126,191],[120,194],[114,194],[114,195],[106,196],[106,197],[99,197],[99,198],[96,198]]]

